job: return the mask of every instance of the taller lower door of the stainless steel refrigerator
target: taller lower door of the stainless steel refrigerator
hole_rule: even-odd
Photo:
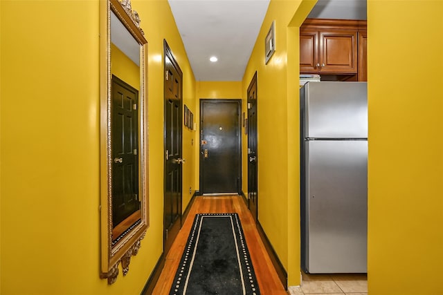
[[[306,142],[306,268],[366,272],[368,142]]]

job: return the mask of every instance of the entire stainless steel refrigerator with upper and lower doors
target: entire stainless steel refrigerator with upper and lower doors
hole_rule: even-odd
[[[304,272],[367,272],[367,100],[365,82],[300,88]]]

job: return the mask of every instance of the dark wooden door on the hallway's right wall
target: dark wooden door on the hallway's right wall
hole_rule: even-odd
[[[258,219],[257,73],[248,86],[248,205]]]

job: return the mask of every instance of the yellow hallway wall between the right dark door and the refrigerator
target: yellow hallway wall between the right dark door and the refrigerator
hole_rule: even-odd
[[[289,285],[300,285],[298,27],[315,2],[271,1],[242,81],[246,97],[257,71],[258,220],[287,270]],[[264,38],[273,20],[275,53],[265,65]],[[243,179],[245,186],[246,169]]]

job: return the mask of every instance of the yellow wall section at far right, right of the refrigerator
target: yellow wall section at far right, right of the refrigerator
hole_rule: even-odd
[[[368,1],[369,294],[443,294],[442,13]]]

